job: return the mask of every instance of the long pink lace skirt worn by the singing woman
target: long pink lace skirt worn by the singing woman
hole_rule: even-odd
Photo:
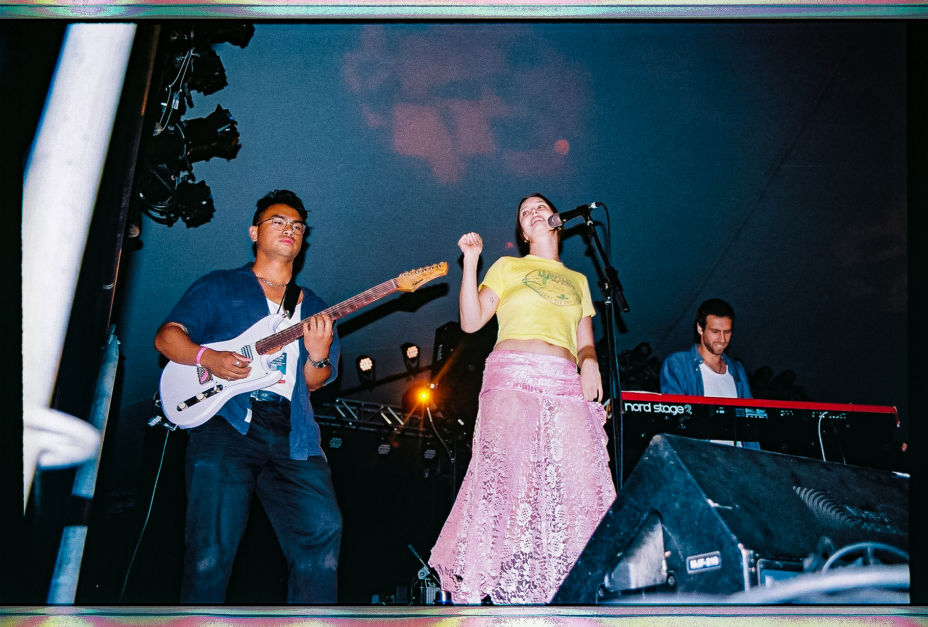
[[[568,359],[486,359],[473,456],[430,564],[455,603],[548,603],[615,500],[602,428]]]

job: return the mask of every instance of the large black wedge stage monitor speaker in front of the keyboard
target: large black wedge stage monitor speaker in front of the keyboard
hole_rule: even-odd
[[[893,472],[655,436],[552,602],[732,594],[858,542],[897,555],[908,503]]]

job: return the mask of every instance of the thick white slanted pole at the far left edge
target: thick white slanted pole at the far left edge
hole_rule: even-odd
[[[36,466],[80,464],[99,432],[49,409],[135,24],[65,32],[22,188],[23,507]],[[98,357],[88,356],[96,367]]]

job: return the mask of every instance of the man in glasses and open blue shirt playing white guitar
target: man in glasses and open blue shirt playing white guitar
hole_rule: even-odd
[[[342,515],[309,393],[335,378],[340,351],[326,304],[292,277],[305,218],[292,191],[260,199],[249,228],[254,262],[195,281],[155,337],[165,357],[196,366],[218,388],[247,378],[254,356],[202,345],[234,338],[269,314],[286,318],[281,329],[301,323],[301,312],[308,316],[302,340],[273,354],[280,375],[272,385],[228,398],[213,418],[188,429],[182,603],[225,602],[255,493],[287,558],[288,602],[337,600]]]

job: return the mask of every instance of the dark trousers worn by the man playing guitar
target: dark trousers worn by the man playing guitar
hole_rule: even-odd
[[[189,430],[181,603],[224,603],[255,493],[290,570],[289,603],[335,603],[342,514],[322,456],[290,459],[290,405],[252,401],[242,436],[214,416]]]

